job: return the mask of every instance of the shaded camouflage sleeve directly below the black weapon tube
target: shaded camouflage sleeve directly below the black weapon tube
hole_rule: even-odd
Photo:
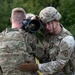
[[[27,52],[30,54],[30,58],[28,60],[34,60],[34,54],[36,53],[37,49],[40,50],[43,45],[38,40],[38,38],[34,34],[26,33],[25,35],[25,42],[27,43]],[[43,47],[42,47],[43,48]],[[28,56],[28,55],[27,55]]]

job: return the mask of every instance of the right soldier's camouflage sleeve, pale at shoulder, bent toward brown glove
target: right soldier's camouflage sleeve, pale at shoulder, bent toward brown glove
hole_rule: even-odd
[[[56,60],[44,64],[39,64],[39,70],[47,74],[54,74],[62,71],[63,67],[69,61],[73,51],[74,38],[72,36],[63,38],[60,43],[60,51],[56,57]]]

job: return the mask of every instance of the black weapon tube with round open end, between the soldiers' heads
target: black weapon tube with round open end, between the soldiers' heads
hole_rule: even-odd
[[[42,22],[38,19],[25,19],[22,22],[22,28],[30,33],[36,33],[42,27]]]

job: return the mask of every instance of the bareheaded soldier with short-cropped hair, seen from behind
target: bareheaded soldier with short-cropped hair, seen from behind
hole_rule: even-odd
[[[0,33],[0,75],[37,75],[34,71],[21,72],[18,69],[21,63],[35,63],[35,57],[30,54],[30,44],[37,43],[37,40],[22,29],[23,19],[26,19],[24,9],[14,8],[10,19],[12,28],[6,28]]]

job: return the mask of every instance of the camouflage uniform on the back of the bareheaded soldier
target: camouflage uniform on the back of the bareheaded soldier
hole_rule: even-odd
[[[35,72],[18,70],[21,63],[26,61],[35,63],[34,56],[28,53],[32,48],[26,42],[26,34],[22,29],[16,28],[7,28],[0,33],[0,73],[2,73],[0,75],[37,75]]]

